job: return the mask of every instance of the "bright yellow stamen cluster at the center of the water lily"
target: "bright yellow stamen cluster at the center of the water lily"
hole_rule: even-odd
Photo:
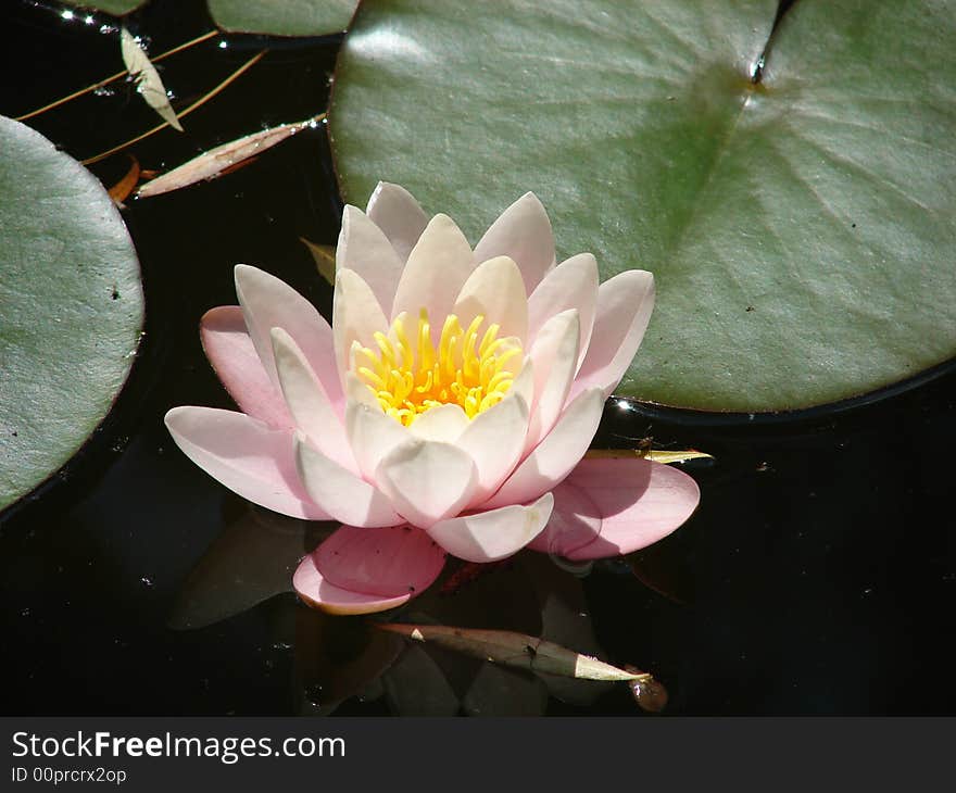
[[[458,318],[450,314],[436,348],[428,312],[423,309],[413,347],[405,329],[407,322],[408,315],[400,314],[388,335],[375,333],[378,350],[363,347],[355,351],[352,365],[382,411],[407,427],[439,405],[461,405],[465,415],[474,418],[501,402],[515,377],[512,364],[520,361],[518,339],[500,339],[500,326],[489,325],[479,342],[483,316],[476,316],[463,329]]]

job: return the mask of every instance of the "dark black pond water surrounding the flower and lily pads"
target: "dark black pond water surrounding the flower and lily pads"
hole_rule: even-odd
[[[105,18],[65,23],[27,2],[3,13],[5,115],[122,67]],[[131,24],[152,52],[212,27],[201,2],[153,2]],[[187,134],[134,147],[142,166],[322,111],[335,38],[217,38],[167,61],[164,78],[189,103],[266,43],[255,68],[186,119]],[[81,159],[155,121],[118,83],[30,123]],[[126,167],[121,155],[96,173],[112,184]],[[235,302],[235,263],[271,269],[328,313],[330,290],[299,238],[334,243],[339,212],[322,129],[124,212],[144,272],[146,342],[80,457],[2,516],[3,713],[641,714],[624,687],[549,692],[449,654],[400,654],[367,622],[323,618],[288,592],[256,603],[287,587],[327,527],[250,509],[178,452],[162,416],[230,406],[197,324]],[[646,437],[716,456],[688,466],[703,501],[674,536],[586,577],[520,556],[454,592],[436,587],[410,616],[600,647],[663,681],[672,715],[956,710],[956,375],[785,421],[608,406],[600,444]]]

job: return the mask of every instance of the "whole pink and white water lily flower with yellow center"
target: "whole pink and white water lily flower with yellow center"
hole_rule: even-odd
[[[236,292],[201,338],[241,412],[175,407],[166,426],[239,495],[342,525],[293,577],[312,605],[401,605],[446,554],[629,553],[696,507],[680,470],[583,458],[654,279],[627,270],[599,286],[590,253],[557,264],[532,193],[473,250],[450,217],[379,184],[365,212],[345,207],[331,325],[255,267],[236,267]]]

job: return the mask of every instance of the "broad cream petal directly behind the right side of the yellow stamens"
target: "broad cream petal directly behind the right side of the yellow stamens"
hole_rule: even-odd
[[[453,312],[463,328],[479,314],[485,326],[501,326],[499,337],[528,338],[528,295],[514,260],[498,256],[479,264],[462,286]]]

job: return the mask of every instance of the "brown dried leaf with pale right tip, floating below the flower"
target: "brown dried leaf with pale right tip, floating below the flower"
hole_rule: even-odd
[[[650,680],[646,672],[634,672],[605,664],[527,633],[510,630],[477,630],[440,625],[381,624],[382,630],[406,639],[432,643],[446,650],[548,675],[564,675],[583,680]]]

